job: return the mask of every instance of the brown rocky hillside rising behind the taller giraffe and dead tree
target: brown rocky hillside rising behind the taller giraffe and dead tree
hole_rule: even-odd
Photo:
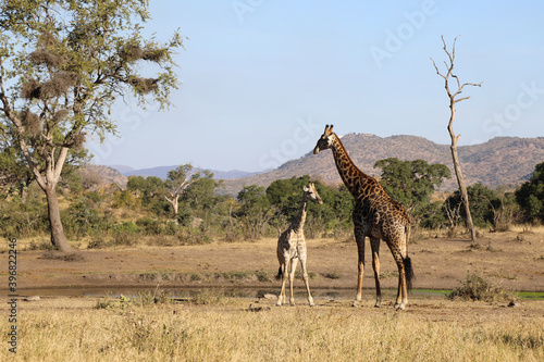
[[[437,145],[416,136],[382,138],[368,134],[349,134],[342,138],[342,142],[357,166],[374,177],[380,176],[380,170],[373,167],[378,160],[421,159],[429,163],[447,165],[453,178],[444,184],[443,189],[450,190],[456,187],[448,145]],[[482,183],[490,187],[517,186],[531,175],[537,163],[544,162],[544,137],[497,137],[481,145],[461,146],[458,151],[467,185]],[[243,186],[255,184],[267,187],[274,179],[305,174],[327,184],[341,183],[331,151],[320,152],[317,155],[310,152],[271,172],[225,180],[221,192],[236,195]]]

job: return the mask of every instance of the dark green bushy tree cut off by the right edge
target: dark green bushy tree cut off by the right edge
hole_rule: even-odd
[[[544,222],[544,162],[534,167],[528,182],[515,192],[527,221]]]

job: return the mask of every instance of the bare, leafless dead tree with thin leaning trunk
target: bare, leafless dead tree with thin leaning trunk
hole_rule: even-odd
[[[447,97],[449,98],[449,122],[447,125],[447,130],[449,133],[449,137],[452,138],[452,146],[449,147],[452,150],[452,158],[454,161],[454,171],[455,175],[457,177],[457,184],[459,185],[459,191],[461,192],[461,200],[462,204],[465,207],[465,215],[466,215],[466,224],[467,228],[470,232],[470,236],[472,241],[475,241],[477,236],[475,236],[475,229],[474,225],[472,224],[472,216],[470,214],[470,208],[469,208],[469,197],[467,194],[467,185],[465,184],[465,179],[462,178],[462,171],[461,171],[461,164],[459,162],[459,157],[457,155],[457,142],[459,141],[459,137],[461,135],[456,135],[454,133],[454,120],[455,120],[455,104],[463,101],[466,99],[469,99],[470,96],[462,97],[462,98],[457,98],[465,86],[474,86],[474,87],[480,87],[482,83],[475,84],[475,83],[463,83],[461,84],[459,80],[459,77],[455,75],[454,72],[454,61],[455,61],[455,42],[457,41],[458,37],[454,39],[454,45],[452,47],[452,51],[447,50],[446,47],[446,41],[444,40],[444,37],[442,37],[442,43],[444,45],[444,51],[446,52],[446,55],[448,58],[448,62],[444,62],[446,65],[446,74],[442,74],[438,71],[438,67],[436,66],[436,63],[434,60],[431,58],[431,61],[433,62],[434,68],[436,70],[436,74],[438,74],[442,78],[444,78],[444,86],[446,88]],[[452,78],[455,79],[455,84],[457,85],[457,90],[453,91],[450,89],[450,84],[449,82]],[[455,86],[455,85],[454,85]]]

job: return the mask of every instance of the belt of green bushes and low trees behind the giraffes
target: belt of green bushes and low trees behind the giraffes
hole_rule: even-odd
[[[449,170],[425,161],[378,161],[384,189],[403,203],[416,229],[462,233],[460,195],[437,192]],[[70,167],[66,167],[69,170]],[[474,225],[492,232],[514,224],[541,223],[544,207],[539,194],[543,164],[517,190],[468,187]],[[132,176],[127,187],[99,186],[97,175],[66,172],[59,184],[61,216],[70,240],[86,248],[149,245],[190,245],[212,240],[255,240],[276,237],[296,214],[309,176],[279,179],[269,187],[244,187],[236,197],[220,196],[221,180],[188,164],[159,177]],[[309,203],[308,238],[345,238],[351,234],[354,199],[344,186],[316,182],[323,204]],[[3,237],[33,237],[36,248],[52,248],[47,202],[35,184],[13,183],[2,188],[0,230]]]

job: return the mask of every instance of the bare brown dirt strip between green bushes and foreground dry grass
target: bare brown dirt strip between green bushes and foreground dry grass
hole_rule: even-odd
[[[26,241],[26,242],[29,242]],[[312,239],[308,271],[312,289],[354,292],[357,247],[353,240]],[[8,252],[2,246],[0,295],[8,295]],[[141,246],[109,250],[82,249],[74,255],[25,250],[17,244],[17,289],[21,295],[55,289],[71,295],[81,288],[115,287],[251,287],[277,290],[276,239],[212,242],[201,246]],[[83,247],[82,247],[83,248]],[[409,255],[415,289],[452,289],[467,274],[478,274],[517,291],[544,291],[544,232],[486,233],[478,245],[460,238],[412,241]],[[363,287],[374,291],[367,241]],[[397,273],[390,250],[381,247],[382,288],[396,289]],[[302,282],[295,282],[302,288]],[[368,292],[367,292],[368,294]]]

